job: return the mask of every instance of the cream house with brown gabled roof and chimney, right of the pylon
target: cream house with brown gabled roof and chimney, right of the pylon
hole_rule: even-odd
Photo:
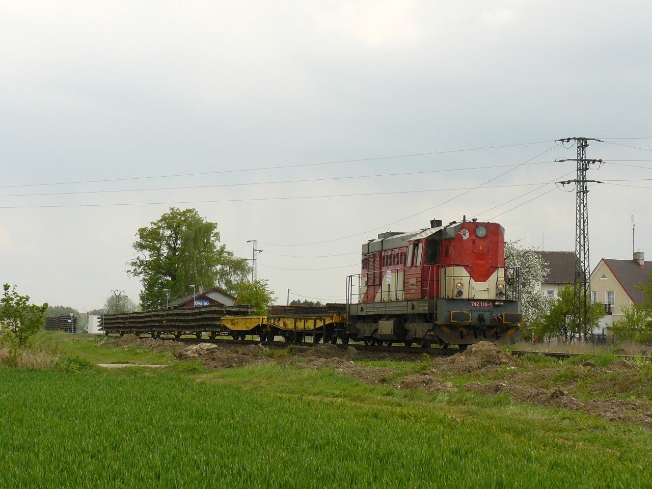
[[[645,261],[640,251],[632,259],[600,259],[591,273],[591,301],[605,305],[602,327],[622,318],[623,307],[642,303],[643,293],[636,286],[649,280],[650,271],[652,261]]]

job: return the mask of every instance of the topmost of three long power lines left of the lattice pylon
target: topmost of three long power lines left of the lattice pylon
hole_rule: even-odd
[[[200,171],[197,173],[175,173],[172,175],[153,175],[153,176],[150,175],[147,177],[122,177],[122,178],[112,178],[112,179],[78,180],[78,181],[69,181],[69,182],[31,183],[31,184],[24,184],[24,185],[1,185],[0,188],[18,188],[18,187],[27,187],[27,186],[47,186],[47,185],[76,185],[80,183],[108,183],[108,182],[121,182],[127,180],[146,180],[146,179],[156,179],[156,178],[197,177],[201,175],[217,175],[220,173],[239,173],[243,171],[260,171],[260,170],[280,170],[283,168],[300,168],[304,166],[321,166],[321,165],[331,165],[337,163],[359,163],[364,161],[391,160],[396,158],[413,158],[415,156],[446,155],[449,153],[464,153],[467,151],[482,151],[484,149],[499,149],[499,148],[514,147],[514,146],[528,146],[528,145],[552,143],[552,142],[553,142],[552,140],[533,141],[531,143],[513,143],[513,144],[484,146],[484,147],[475,147],[475,148],[466,148],[466,149],[449,149],[446,151],[430,151],[428,153],[411,153],[407,155],[376,156],[374,158],[356,158],[353,160],[333,160],[333,161],[319,162],[319,163],[299,163],[293,165],[263,166],[258,168],[238,168],[236,170]]]

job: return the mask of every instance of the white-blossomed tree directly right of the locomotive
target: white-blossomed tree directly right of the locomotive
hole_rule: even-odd
[[[520,240],[505,243],[505,266],[521,269],[521,312],[526,323],[550,310],[550,299],[541,292],[543,279],[550,271],[546,265],[537,248],[523,248]]]

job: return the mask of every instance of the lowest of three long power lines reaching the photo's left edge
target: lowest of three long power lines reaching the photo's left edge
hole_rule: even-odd
[[[520,183],[512,185],[493,185],[482,187],[479,190],[491,190],[494,188],[509,188],[516,186],[541,185],[539,183]],[[196,204],[196,203],[227,203],[227,202],[254,202],[254,201],[271,201],[271,200],[301,200],[301,199],[319,199],[334,197],[363,197],[378,195],[394,194],[417,194],[424,192],[451,192],[454,190],[473,190],[475,187],[458,187],[458,188],[428,188],[426,190],[395,190],[393,192],[363,192],[357,194],[325,194],[310,196],[282,196],[282,197],[252,197],[243,199],[218,199],[218,200],[182,200],[182,201],[153,201],[153,202],[113,202],[113,203],[92,203],[92,204],[38,204],[38,205],[3,205],[0,209],[43,209],[58,207],[117,207],[128,205],[175,205],[175,204]]]

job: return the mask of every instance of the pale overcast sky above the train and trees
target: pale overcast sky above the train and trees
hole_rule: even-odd
[[[574,194],[542,185],[574,177],[554,160],[575,150],[551,141],[652,136],[650,18],[644,1],[0,1],[0,282],[80,310],[136,299],[134,235],[170,203],[239,256],[258,239],[282,303],[341,301],[362,243],[432,218],[573,250]],[[652,193],[622,186],[652,187],[652,139],[605,141],[589,178],[621,181],[591,187],[591,264],[631,258],[632,213],[652,258]],[[516,143],[534,144],[441,153]],[[289,168],[218,173],[269,167]],[[180,173],[203,174],[162,177]]]

